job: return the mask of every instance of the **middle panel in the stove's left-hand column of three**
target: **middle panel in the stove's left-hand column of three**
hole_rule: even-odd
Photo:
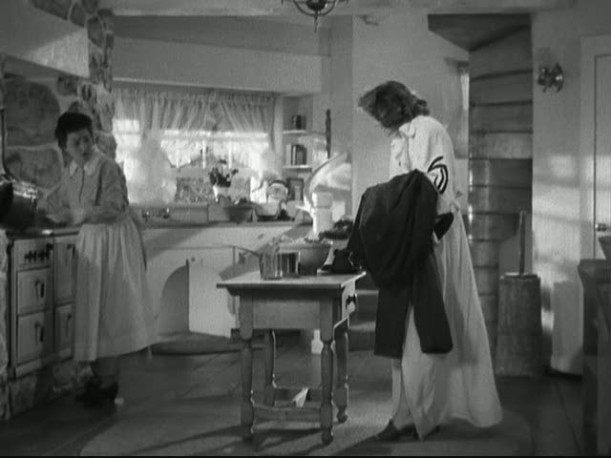
[[[17,314],[42,310],[52,298],[53,277],[50,268],[17,273]]]

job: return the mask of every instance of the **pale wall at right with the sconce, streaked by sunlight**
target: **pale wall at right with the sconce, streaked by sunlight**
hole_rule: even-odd
[[[584,163],[580,145],[581,38],[611,35],[611,2],[577,0],[570,9],[533,17],[533,56],[548,49],[565,73],[561,92],[534,91],[533,252],[541,277],[544,325],[553,328],[552,365],[581,372],[582,289],[577,265],[592,257],[591,241],[581,236],[580,202],[587,191],[580,183]],[[555,316],[555,320],[554,320]]]

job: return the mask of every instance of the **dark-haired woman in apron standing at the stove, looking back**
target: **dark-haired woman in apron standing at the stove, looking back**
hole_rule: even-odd
[[[119,356],[148,347],[155,338],[143,243],[129,211],[123,172],[94,147],[91,119],[64,113],[55,136],[70,161],[40,208],[57,223],[80,226],[73,357],[91,363],[93,377],[77,399],[103,405],[117,396]]]

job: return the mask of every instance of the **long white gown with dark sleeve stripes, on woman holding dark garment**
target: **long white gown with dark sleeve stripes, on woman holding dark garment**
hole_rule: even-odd
[[[456,200],[452,142],[445,128],[429,116],[418,116],[403,125],[391,145],[391,177],[414,169],[426,173],[440,191],[438,213],[454,214],[450,229],[434,247],[454,348],[446,355],[422,353],[410,307],[403,357],[400,363],[393,361],[393,404],[395,409],[405,408],[400,399],[405,401],[423,438],[450,419],[492,426],[501,421],[502,409]]]

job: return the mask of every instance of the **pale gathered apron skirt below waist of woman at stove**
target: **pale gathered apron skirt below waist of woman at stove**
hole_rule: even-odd
[[[76,361],[141,350],[155,339],[141,235],[126,212],[81,228],[75,262]]]

